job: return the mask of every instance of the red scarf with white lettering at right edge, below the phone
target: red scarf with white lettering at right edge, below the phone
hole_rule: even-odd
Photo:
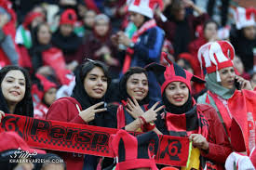
[[[234,142],[244,144],[249,155],[256,146],[256,93],[250,90],[236,90],[233,97],[228,99],[228,107],[243,136],[238,137],[238,128],[234,130],[234,126],[231,126],[231,142],[233,145]]]

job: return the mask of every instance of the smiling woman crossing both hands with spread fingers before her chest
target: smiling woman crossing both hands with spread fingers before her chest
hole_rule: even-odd
[[[122,104],[119,105],[116,113],[117,128],[124,128],[128,131],[158,131],[155,128],[156,112],[159,102],[147,110],[149,102],[147,72],[141,67],[132,67],[120,80],[119,91]]]

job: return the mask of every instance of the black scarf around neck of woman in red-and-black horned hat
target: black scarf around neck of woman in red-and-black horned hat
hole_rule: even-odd
[[[182,106],[175,106],[168,101],[166,94],[163,94],[163,103],[166,106],[166,111],[174,114],[182,114],[190,111],[193,108],[193,99],[189,93],[187,101]]]

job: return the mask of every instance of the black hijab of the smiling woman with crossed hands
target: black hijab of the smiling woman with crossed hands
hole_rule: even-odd
[[[127,98],[131,99],[131,97],[128,96],[128,92],[127,92],[127,82],[128,82],[128,78],[134,73],[144,73],[146,75],[146,77],[148,78],[148,74],[147,74],[146,70],[144,70],[143,68],[141,68],[141,67],[129,68],[128,72],[126,72],[122,76],[122,78],[120,79],[120,82],[119,82],[119,93],[120,93],[121,100],[127,101]],[[138,103],[140,105],[148,104],[149,103],[149,92],[148,92],[147,96],[145,98],[143,98],[141,101],[138,100]]]

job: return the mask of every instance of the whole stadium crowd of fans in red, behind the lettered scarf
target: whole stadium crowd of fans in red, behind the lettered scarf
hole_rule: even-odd
[[[0,121],[119,129],[115,158],[1,131],[0,169],[256,169],[252,0],[0,0],[0,85]],[[159,135],[189,138],[187,166],[155,164]],[[10,163],[20,150],[48,162]]]

